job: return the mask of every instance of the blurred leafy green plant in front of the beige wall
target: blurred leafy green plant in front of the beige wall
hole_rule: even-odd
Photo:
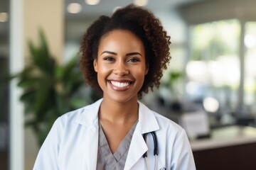
[[[43,31],[39,31],[39,45],[28,42],[29,62],[14,77],[23,89],[26,126],[33,128],[38,145],[42,145],[56,118],[63,113],[90,103],[81,91],[85,89],[76,55],[66,64],[58,64],[50,55]]]

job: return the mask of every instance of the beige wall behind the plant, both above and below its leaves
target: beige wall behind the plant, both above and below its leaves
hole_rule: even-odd
[[[24,56],[28,56],[28,40],[37,43],[38,30],[46,35],[50,53],[58,62],[63,60],[64,13],[63,0],[23,1]],[[33,169],[38,144],[31,128],[25,128],[25,169]]]

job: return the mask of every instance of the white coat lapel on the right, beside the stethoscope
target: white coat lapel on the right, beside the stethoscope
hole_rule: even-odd
[[[139,122],[134,130],[124,170],[132,169],[134,164],[137,164],[137,169],[144,167],[144,161],[139,162],[139,159],[142,158],[143,154],[148,150],[148,147],[142,134],[156,130],[159,130],[159,125],[154,113],[139,102]]]

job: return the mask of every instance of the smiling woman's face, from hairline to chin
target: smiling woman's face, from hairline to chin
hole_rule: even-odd
[[[128,30],[112,30],[101,40],[94,61],[103,98],[117,102],[137,101],[148,72],[142,41]]]

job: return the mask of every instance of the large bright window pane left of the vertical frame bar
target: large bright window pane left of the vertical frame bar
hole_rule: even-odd
[[[191,26],[186,93],[208,113],[238,111],[240,22],[236,19]]]

